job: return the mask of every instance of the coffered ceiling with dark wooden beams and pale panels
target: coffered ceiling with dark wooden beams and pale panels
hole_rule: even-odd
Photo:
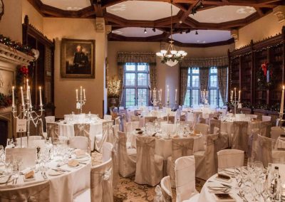
[[[103,17],[113,29],[109,41],[169,41],[172,2],[173,39],[180,46],[232,43],[232,29],[256,21],[276,6],[285,5],[283,0],[28,1],[45,17]]]

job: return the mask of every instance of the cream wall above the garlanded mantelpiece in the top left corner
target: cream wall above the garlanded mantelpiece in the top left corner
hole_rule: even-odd
[[[0,34],[14,41],[22,41],[22,4],[19,0],[4,0],[4,15],[0,21]]]

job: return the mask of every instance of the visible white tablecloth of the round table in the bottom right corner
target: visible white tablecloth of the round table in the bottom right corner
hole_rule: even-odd
[[[281,181],[284,181],[285,179],[285,164],[272,164],[272,167],[274,166],[279,166],[279,175],[281,176]],[[243,202],[242,198],[240,198],[237,193],[239,192],[239,189],[236,189],[237,187],[237,181],[235,179],[231,179],[232,181],[230,183],[224,182],[224,181],[218,181],[217,179],[215,179],[217,176],[217,174],[214,174],[214,176],[210,177],[206,183],[204,184],[200,196],[199,196],[199,201],[198,202],[216,202],[216,198],[214,197],[214,193],[217,192],[213,192],[210,191],[208,186],[222,186],[222,184],[228,184],[229,186],[232,186],[231,190],[229,191],[229,195],[232,196],[232,198],[234,198],[237,202]],[[219,192],[221,193],[221,192]],[[249,200],[249,196],[245,196],[247,198],[248,201]]]

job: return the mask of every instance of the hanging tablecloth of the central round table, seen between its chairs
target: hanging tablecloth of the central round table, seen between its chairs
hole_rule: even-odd
[[[134,131],[131,138],[131,147],[136,148],[136,137],[138,134]],[[193,152],[204,150],[204,139],[201,135],[190,136],[194,138]],[[184,138],[184,137],[177,137]],[[163,157],[167,160],[172,155],[172,138],[155,138],[155,154]]]

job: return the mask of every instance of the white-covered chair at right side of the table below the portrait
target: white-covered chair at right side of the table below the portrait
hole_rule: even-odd
[[[95,150],[102,153],[104,142],[114,142],[113,121],[102,122],[102,134],[95,134]]]

